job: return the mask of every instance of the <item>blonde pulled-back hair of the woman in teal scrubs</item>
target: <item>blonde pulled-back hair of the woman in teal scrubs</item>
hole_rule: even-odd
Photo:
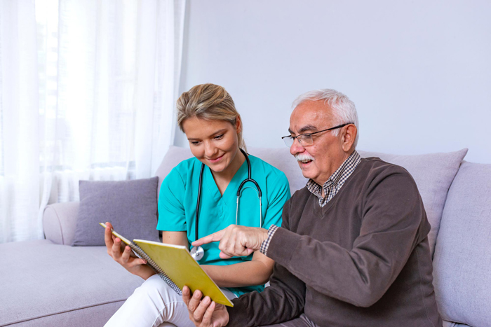
[[[182,93],[177,99],[177,125],[182,132],[184,132],[182,129],[184,120],[192,117],[206,120],[225,120],[235,126],[240,115],[235,109],[234,100],[232,100],[229,92],[220,85],[208,83],[192,87],[191,90]],[[238,147],[246,151],[242,131],[243,126],[241,126],[241,131],[237,133]]]

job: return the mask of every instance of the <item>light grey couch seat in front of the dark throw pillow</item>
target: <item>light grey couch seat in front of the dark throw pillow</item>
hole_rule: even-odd
[[[143,281],[105,246],[43,239],[0,244],[0,252],[0,326],[102,326]]]

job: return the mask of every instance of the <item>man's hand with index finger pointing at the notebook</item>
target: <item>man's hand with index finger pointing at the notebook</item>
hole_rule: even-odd
[[[264,228],[247,227],[241,225],[229,225],[224,230],[219,230],[201,239],[192,242],[193,246],[199,246],[210,242],[218,242],[220,258],[229,259],[233,256],[248,256],[257,251],[261,243],[268,238],[268,231]]]

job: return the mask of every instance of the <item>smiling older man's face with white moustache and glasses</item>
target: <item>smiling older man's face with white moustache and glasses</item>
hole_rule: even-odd
[[[290,116],[290,134],[295,137],[299,134],[314,133],[334,127],[331,109],[325,106],[323,100],[303,102],[295,108]],[[298,160],[302,174],[313,179],[319,185],[325,181],[342,165],[347,153],[342,149],[342,133],[337,137],[331,131],[312,135],[314,144],[302,146],[297,139],[290,147],[290,153]]]

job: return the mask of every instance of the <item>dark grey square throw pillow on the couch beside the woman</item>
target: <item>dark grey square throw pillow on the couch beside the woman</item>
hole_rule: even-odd
[[[99,223],[109,221],[127,239],[159,242],[158,177],[133,181],[80,181],[80,207],[72,246],[105,245]]]

